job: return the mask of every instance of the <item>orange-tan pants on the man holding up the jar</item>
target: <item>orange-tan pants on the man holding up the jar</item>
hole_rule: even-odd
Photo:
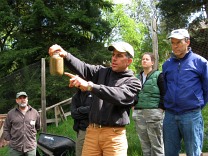
[[[127,156],[125,127],[87,128],[82,156]]]

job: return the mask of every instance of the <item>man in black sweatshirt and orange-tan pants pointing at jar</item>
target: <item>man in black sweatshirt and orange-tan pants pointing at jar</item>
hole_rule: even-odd
[[[130,123],[130,109],[137,101],[141,83],[128,69],[133,47],[116,42],[108,49],[112,51],[111,67],[86,64],[59,45],[49,48],[50,55],[59,52],[69,69],[79,75],[65,73],[71,78],[69,86],[92,94],[82,156],[127,156],[125,125]]]

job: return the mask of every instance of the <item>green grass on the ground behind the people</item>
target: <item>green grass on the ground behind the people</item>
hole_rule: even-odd
[[[208,106],[202,111],[204,117],[204,146],[203,152],[208,152]],[[59,126],[55,124],[47,126],[47,133],[62,135],[76,140],[76,133],[73,130],[73,119],[69,116],[67,121],[60,122]],[[37,136],[38,137],[38,136]],[[127,126],[127,139],[128,139],[128,156],[142,156],[140,142],[134,127],[134,121],[131,119],[131,124]],[[182,151],[184,152],[184,147]],[[7,156],[8,147],[0,148],[0,155]]]

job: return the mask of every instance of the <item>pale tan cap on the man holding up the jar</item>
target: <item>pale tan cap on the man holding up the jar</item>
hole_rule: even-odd
[[[109,51],[113,51],[114,49],[119,52],[127,52],[132,58],[134,57],[134,48],[127,42],[114,42],[108,47]]]

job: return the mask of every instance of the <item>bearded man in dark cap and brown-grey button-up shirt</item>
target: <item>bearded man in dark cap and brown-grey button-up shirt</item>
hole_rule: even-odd
[[[3,136],[9,141],[10,156],[36,156],[36,134],[40,129],[40,116],[28,104],[26,92],[16,94],[18,106],[7,114]]]

